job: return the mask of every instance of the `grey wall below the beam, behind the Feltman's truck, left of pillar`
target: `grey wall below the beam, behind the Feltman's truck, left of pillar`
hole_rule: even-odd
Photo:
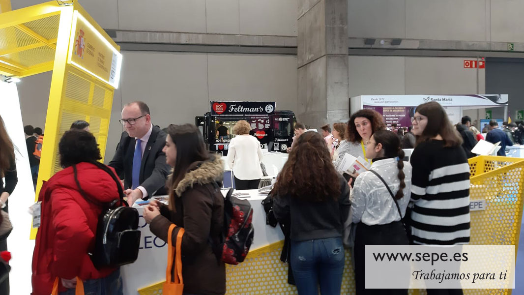
[[[153,123],[193,123],[211,100],[275,101],[278,110],[297,109],[297,57],[124,51],[122,78],[113,100],[107,160],[113,157],[122,126],[122,105],[142,100]],[[51,73],[18,84],[25,125],[45,124]]]

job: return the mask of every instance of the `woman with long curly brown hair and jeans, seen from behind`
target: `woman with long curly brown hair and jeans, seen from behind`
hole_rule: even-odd
[[[320,285],[322,294],[340,294],[350,190],[319,133],[309,131],[298,138],[274,193],[275,217],[290,224],[290,263],[298,293],[317,294]]]

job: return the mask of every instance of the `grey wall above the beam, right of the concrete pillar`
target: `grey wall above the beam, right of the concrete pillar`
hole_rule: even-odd
[[[348,0],[348,35],[524,42],[522,11],[508,0]]]

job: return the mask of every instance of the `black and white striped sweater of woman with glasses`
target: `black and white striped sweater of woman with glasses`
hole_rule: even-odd
[[[462,147],[429,140],[413,150],[410,162],[413,243],[470,242],[470,166]]]

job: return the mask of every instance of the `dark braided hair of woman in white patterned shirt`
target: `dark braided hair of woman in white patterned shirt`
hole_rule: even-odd
[[[404,196],[403,189],[406,188],[406,183],[404,179],[406,175],[404,174],[404,151],[400,146],[400,138],[397,134],[392,133],[389,130],[377,130],[373,133],[373,138],[377,144],[381,144],[384,149],[384,157],[386,158],[397,158],[398,157],[398,179],[400,180],[400,187],[395,195],[395,199],[402,199]]]

